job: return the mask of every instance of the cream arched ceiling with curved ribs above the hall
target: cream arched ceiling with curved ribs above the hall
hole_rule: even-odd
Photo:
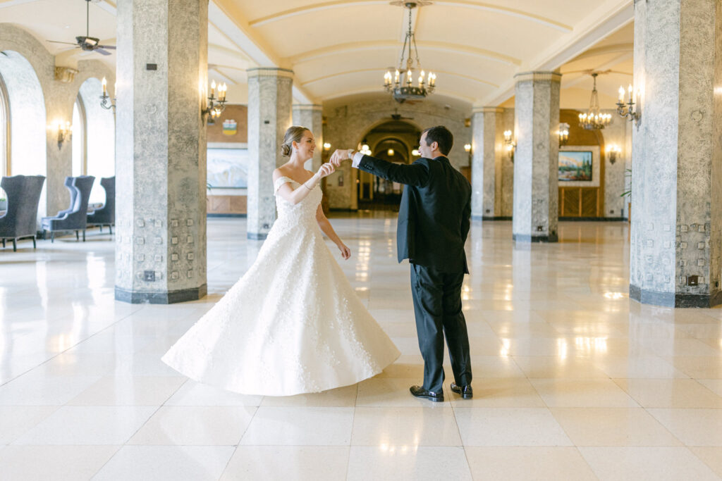
[[[90,6],[90,35],[103,43],[115,42],[116,1]],[[513,95],[514,74],[541,69],[561,69],[562,89],[575,99],[586,92],[588,102],[584,70],[631,72],[632,17],[632,0],[432,0],[414,9],[412,24],[422,66],[438,74],[438,100],[499,105]],[[209,76],[238,91],[246,69],[279,66],[295,72],[300,102],[380,94],[407,21],[388,0],[211,0]],[[0,22],[32,32],[58,65],[92,56],[114,66],[115,55],[45,42],[85,35],[84,0],[0,0]],[[622,74],[599,78],[602,99],[613,99]]]

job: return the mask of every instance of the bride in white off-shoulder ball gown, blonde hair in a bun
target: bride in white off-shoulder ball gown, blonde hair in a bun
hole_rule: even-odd
[[[399,357],[323,240],[349,248],[321,210],[323,164],[303,168],[313,133],[294,126],[274,170],[278,219],[256,262],[162,357],[196,381],[241,394],[290,396],[355,384]]]

